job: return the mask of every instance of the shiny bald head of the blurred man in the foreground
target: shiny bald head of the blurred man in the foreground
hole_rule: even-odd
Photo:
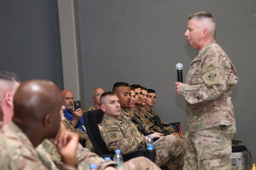
[[[13,103],[12,120],[27,134],[34,146],[56,135],[60,127],[62,100],[53,82],[23,82],[14,95]]]

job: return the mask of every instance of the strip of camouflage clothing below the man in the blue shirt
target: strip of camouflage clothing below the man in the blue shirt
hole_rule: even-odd
[[[71,131],[71,132],[74,132],[74,133],[77,133],[79,135],[80,138],[82,139],[85,139],[86,140],[86,143],[85,143],[85,147],[87,149],[89,149],[91,152],[95,152],[96,153],[96,150],[94,149],[93,147],[93,144],[91,143],[90,139],[89,139],[89,136],[84,133],[81,129],[79,128],[75,128],[73,126],[73,123],[68,120],[67,118],[65,118],[65,120],[63,121],[64,125],[66,126],[66,128]]]

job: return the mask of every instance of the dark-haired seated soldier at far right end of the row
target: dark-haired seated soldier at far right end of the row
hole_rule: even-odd
[[[155,105],[156,103],[156,91],[153,90],[153,89],[147,89],[147,92],[148,92],[148,99],[147,99],[147,102],[146,102],[146,106],[145,107],[142,107],[140,108],[141,111],[144,113],[145,117],[147,118],[148,120],[148,125],[151,126],[152,124],[154,124],[153,122],[150,122],[150,118],[153,117],[153,116],[158,116],[153,110],[152,110],[152,107]],[[158,116],[159,117],[159,116]],[[160,121],[162,124],[167,124],[165,121],[163,121],[160,117],[159,117]],[[152,121],[152,120],[151,120]],[[152,128],[156,128],[156,129],[160,129],[159,127],[157,126],[154,126]],[[172,127],[164,127],[169,133],[173,133],[174,130]],[[175,134],[179,134],[179,132],[174,132]],[[186,140],[186,137],[187,137],[187,131],[182,131],[181,132],[182,134],[182,139],[183,140]]]

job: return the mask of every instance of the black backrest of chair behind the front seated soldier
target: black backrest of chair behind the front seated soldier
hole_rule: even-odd
[[[102,118],[103,111],[101,109],[91,110],[84,113],[84,122],[87,134],[99,156],[113,154],[113,152],[108,150],[105,142],[100,136],[97,124],[101,123]]]

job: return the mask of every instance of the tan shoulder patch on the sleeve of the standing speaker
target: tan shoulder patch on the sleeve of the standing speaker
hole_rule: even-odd
[[[209,62],[204,66],[203,76],[205,78],[206,86],[220,84],[218,67],[215,62]]]

